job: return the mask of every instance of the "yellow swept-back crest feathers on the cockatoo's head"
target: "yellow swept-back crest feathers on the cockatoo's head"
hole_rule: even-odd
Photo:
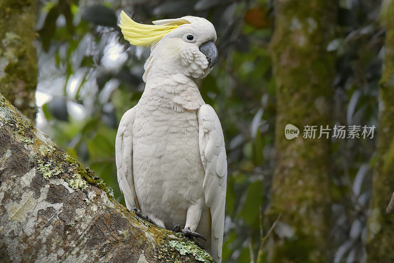
[[[156,22],[156,23],[155,23]],[[190,23],[185,19],[159,20],[156,25],[144,25],[134,22],[124,11],[120,13],[120,25],[124,38],[135,46],[150,46],[157,43],[164,35],[183,24]]]

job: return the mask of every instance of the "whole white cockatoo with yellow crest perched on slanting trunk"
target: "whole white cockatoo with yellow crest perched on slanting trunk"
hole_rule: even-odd
[[[206,237],[221,262],[227,161],[222,127],[197,88],[218,58],[206,19],[184,16],[138,24],[125,12],[120,28],[132,45],[151,47],[145,90],[116,135],[118,182],[127,208],[166,229]],[[201,236],[202,235],[202,236]]]

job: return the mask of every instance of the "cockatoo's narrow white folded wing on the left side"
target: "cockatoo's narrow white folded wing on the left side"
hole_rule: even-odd
[[[125,196],[128,209],[139,207],[135,193],[132,175],[132,125],[135,119],[135,110],[131,108],[122,117],[115,139],[115,158],[118,170],[118,183]]]

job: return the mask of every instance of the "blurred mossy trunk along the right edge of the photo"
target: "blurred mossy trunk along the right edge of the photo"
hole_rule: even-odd
[[[394,190],[394,1],[382,5],[386,23],[385,58],[380,84],[378,145],[369,207],[367,262],[394,262],[394,216],[386,206]],[[387,212],[394,212],[393,202]]]

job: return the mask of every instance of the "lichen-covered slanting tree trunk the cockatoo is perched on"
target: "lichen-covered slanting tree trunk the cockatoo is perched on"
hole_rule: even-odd
[[[92,170],[0,94],[0,262],[213,260],[114,201]]]

